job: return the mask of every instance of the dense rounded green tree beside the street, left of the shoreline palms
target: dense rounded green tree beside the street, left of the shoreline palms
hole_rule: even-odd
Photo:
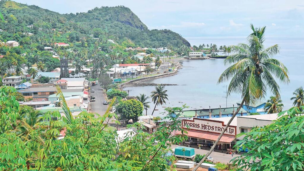
[[[143,104],[135,99],[120,101],[117,111],[123,118],[137,121],[137,118],[143,114]]]

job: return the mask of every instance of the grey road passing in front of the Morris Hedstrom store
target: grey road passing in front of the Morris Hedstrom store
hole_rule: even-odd
[[[175,147],[182,147],[181,145],[172,145],[171,149],[174,149]],[[208,150],[205,149],[197,149],[194,148],[195,154],[206,154],[208,152]],[[231,154],[226,154],[226,153],[221,153],[221,152],[212,152],[210,154],[210,156],[214,159],[214,162],[221,162],[221,163],[229,163],[230,160],[232,159]],[[234,154],[233,157],[237,157],[240,156],[239,154]]]

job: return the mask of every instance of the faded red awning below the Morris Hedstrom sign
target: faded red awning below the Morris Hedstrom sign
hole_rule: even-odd
[[[209,133],[209,132],[199,132],[199,131],[192,131],[192,130],[187,130],[188,137],[192,138],[197,138],[197,139],[206,139],[209,141],[216,141],[216,139],[219,137],[219,134],[214,134],[214,133]],[[177,131],[175,134],[181,135],[180,131]],[[229,135],[223,135],[222,138],[219,140],[219,142],[222,143],[231,143],[235,139],[234,136],[229,136]]]

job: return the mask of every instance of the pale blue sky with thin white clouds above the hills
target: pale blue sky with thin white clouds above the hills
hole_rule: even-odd
[[[149,29],[171,29],[186,39],[246,37],[250,23],[266,26],[268,37],[304,37],[304,0],[14,1],[62,14],[124,5]]]

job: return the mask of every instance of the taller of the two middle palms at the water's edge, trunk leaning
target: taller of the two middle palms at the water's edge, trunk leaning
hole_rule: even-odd
[[[163,105],[166,104],[165,100],[168,100],[168,94],[166,94],[167,90],[164,90],[165,86],[162,86],[161,84],[155,86],[155,90],[151,91],[152,101],[155,104],[152,115],[155,111],[155,108],[157,105]]]

